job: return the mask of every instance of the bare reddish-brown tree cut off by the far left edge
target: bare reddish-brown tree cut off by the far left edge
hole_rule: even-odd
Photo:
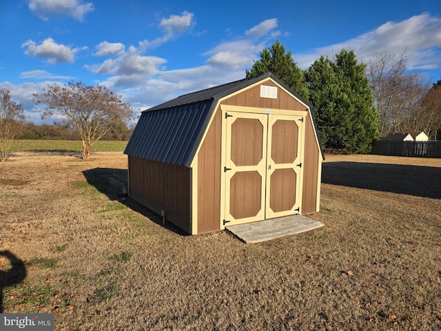
[[[9,90],[0,90],[0,161],[9,157],[10,146],[25,122],[23,105],[11,100]]]

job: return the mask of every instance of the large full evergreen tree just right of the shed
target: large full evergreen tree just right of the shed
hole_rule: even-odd
[[[336,61],[320,57],[307,71],[310,101],[327,150],[366,153],[378,139],[378,112],[365,70],[352,50],[343,49]]]

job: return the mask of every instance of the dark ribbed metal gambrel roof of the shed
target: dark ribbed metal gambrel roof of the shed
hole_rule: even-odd
[[[306,103],[270,72],[181,95],[144,110],[124,154],[189,167],[220,98],[271,77]],[[313,117],[314,119],[314,117]],[[314,123],[315,124],[315,123]]]

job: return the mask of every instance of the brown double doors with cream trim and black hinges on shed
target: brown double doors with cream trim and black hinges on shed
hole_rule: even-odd
[[[225,220],[228,225],[300,212],[302,119],[225,113]]]

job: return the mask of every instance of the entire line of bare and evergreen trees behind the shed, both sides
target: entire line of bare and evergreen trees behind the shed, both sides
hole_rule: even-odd
[[[408,72],[406,51],[399,57],[379,52],[369,63],[358,61],[353,50],[322,56],[307,70],[298,68],[291,51],[280,41],[260,52],[246,77],[272,72],[308,101],[315,112],[318,133],[327,152],[367,153],[383,132],[424,131],[431,139],[441,132],[441,80],[429,86],[419,74]],[[70,82],[48,85],[34,94],[42,118],[58,114],[52,125],[26,123],[23,106],[0,90],[0,160],[8,158],[10,141],[22,139],[79,139],[83,159],[99,139],[127,140],[127,123],[134,113],[103,86]]]

